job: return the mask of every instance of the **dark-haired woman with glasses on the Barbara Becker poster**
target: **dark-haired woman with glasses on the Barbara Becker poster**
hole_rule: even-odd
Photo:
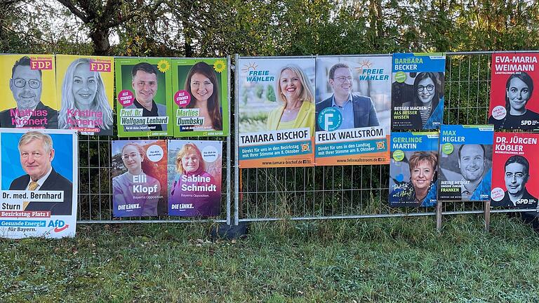
[[[411,115],[413,128],[439,128],[444,112],[443,84],[444,74],[437,72],[421,72],[413,81],[413,107],[420,107],[417,115]]]

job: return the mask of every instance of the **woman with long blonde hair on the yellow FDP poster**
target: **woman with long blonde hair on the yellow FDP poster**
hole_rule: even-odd
[[[74,60],[62,83],[58,128],[99,128],[95,133],[112,135],[112,123],[112,108],[101,74],[90,70],[90,59]]]

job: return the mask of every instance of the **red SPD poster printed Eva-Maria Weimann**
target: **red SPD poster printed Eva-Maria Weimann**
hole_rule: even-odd
[[[539,54],[493,53],[488,123],[495,130],[539,130]],[[535,84],[535,85],[534,85]]]

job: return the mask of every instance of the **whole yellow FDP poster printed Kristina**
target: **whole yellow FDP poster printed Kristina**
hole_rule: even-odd
[[[84,135],[112,135],[114,59],[56,55],[58,128]]]

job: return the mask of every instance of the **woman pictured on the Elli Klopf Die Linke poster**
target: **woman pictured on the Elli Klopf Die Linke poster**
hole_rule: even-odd
[[[127,171],[112,178],[114,215],[117,217],[157,215],[161,184],[144,172],[145,154],[144,147],[137,143],[127,143],[121,149],[121,159]],[[138,186],[152,189],[152,194],[135,190]]]

